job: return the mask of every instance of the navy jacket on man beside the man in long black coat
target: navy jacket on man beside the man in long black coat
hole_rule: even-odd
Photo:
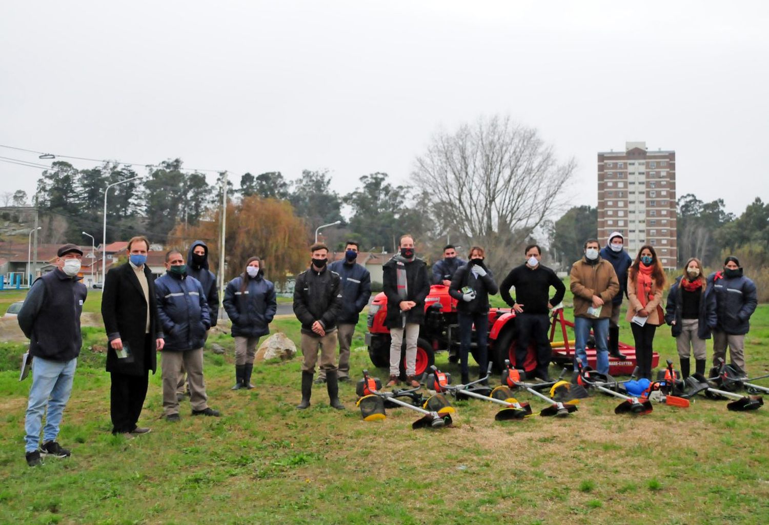
[[[211,318],[198,279],[166,273],[155,279],[155,297],[165,338],[163,351],[202,348]]]

